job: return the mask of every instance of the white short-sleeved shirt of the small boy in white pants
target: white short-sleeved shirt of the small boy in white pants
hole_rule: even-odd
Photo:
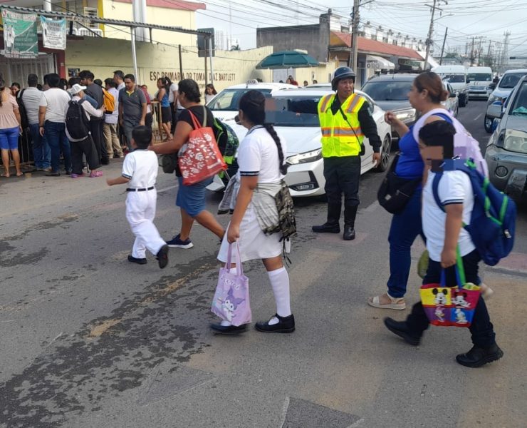
[[[122,176],[129,178],[128,188],[149,188],[157,179],[157,155],[149,150],[128,153],[122,163]]]

